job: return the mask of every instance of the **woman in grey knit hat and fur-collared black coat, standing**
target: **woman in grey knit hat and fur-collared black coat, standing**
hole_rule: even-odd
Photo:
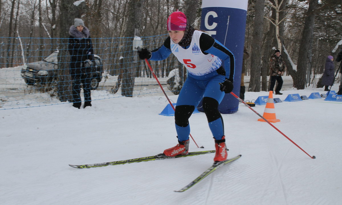
[[[84,105],[83,108],[91,106],[90,92],[90,73],[92,65],[94,65],[94,52],[91,43],[90,32],[84,26],[84,22],[80,18],[74,19],[74,25],[69,29],[69,45],[68,50],[70,59],[70,75],[73,87],[73,106],[80,109],[81,107],[81,84],[83,85]]]

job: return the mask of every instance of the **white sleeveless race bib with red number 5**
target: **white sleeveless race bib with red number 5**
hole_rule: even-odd
[[[186,67],[188,72],[194,76],[203,76],[220,68],[222,61],[217,56],[202,53],[199,48],[199,38],[203,32],[195,30],[191,44],[188,49],[174,43],[170,39],[173,55]]]

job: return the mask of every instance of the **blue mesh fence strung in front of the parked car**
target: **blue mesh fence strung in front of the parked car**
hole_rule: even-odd
[[[142,47],[156,49],[167,36],[140,37]],[[69,39],[0,39],[0,110],[73,102]],[[133,51],[133,38],[92,38],[92,44],[95,60],[87,71],[92,101],[163,96],[145,61]],[[185,76],[178,60],[170,55],[150,64],[168,95],[178,94]]]

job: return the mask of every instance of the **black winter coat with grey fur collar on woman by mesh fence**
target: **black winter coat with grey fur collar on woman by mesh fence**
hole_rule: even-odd
[[[69,29],[69,34],[68,51],[71,56],[70,66],[71,68],[80,68],[83,61],[94,59],[90,32],[87,27],[84,27],[83,31],[79,32],[73,25]]]

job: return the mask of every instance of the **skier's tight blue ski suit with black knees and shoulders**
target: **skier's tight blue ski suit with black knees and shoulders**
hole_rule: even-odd
[[[216,59],[220,62],[208,66],[204,71],[202,69],[201,73],[194,73],[192,69],[193,64],[189,62],[192,60],[191,55],[194,53],[193,51],[199,50],[198,45],[195,44],[192,48],[190,46],[193,44],[182,47],[186,58],[190,56],[190,59],[180,59],[175,54],[176,46],[171,42],[170,37],[158,49],[152,51],[150,60],[163,60],[171,53],[174,53],[178,60],[181,63],[183,61],[185,67],[188,69],[187,79],[184,82],[175,107],[175,127],[178,140],[185,141],[189,139],[190,125],[188,119],[202,98],[203,110],[207,116],[209,128],[213,137],[216,140],[220,140],[224,136],[224,125],[218,107],[223,99],[224,92],[220,90],[219,83],[225,80],[234,81],[234,55],[224,45],[206,33],[198,33],[200,31],[195,32],[197,32],[199,39],[194,39],[196,37],[193,37],[192,41],[197,40],[196,42],[199,42],[200,52],[205,55],[211,54],[213,57],[217,56],[218,58]],[[179,46],[178,44],[176,45]]]

